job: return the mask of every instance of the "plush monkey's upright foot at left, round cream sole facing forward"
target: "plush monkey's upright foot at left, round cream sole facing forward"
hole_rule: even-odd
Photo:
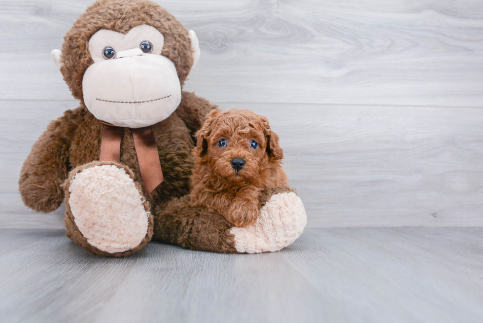
[[[62,187],[67,236],[87,251],[123,257],[151,240],[153,216],[127,166],[91,162],[73,169]]]

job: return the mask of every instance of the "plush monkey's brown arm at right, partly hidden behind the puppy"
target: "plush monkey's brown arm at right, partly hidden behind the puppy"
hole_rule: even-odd
[[[206,99],[196,96],[193,92],[183,91],[181,94],[181,103],[175,110],[175,113],[184,121],[191,135],[201,128],[209,111],[218,108],[212,105]]]

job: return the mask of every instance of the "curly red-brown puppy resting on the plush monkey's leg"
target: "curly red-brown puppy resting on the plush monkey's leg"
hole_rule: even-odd
[[[249,110],[213,110],[196,134],[190,204],[247,226],[259,215],[265,188],[288,184],[283,151],[267,118]]]

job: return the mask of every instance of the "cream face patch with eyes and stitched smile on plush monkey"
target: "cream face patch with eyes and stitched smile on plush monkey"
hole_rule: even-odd
[[[89,40],[94,64],[84,74],[84,103],[116,126],[150,126],[170,116],[181,100],[173,62],[161,56],[164,37],[141,25],[127,34],[100,30]]]

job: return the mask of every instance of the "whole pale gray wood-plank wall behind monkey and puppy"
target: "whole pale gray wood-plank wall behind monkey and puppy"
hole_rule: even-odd
[[[309,227],[483,226],[483,1],[157,2],[200,39],[185,90],[269,117]],[[91,3],[0,1],[0,227],[63,227],[17,180],[78,105],[50,51]]]

